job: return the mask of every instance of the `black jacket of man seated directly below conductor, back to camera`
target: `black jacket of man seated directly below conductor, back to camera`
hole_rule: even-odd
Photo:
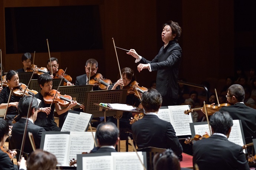
[[[144,147],[171,148],[177,155],[183,151],[170,122],[157,115],[145,115],[132,124],[132,136],[139,149]]]

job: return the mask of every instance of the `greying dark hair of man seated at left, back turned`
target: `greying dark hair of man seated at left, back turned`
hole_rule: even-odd
[[[27,117],[28,109],[37,109],[38,108],[38,101],[33,96],[24,96],[20,99],[18,104],[18,112],[21,117]],[[29,112],[29,117],[31,116],[31,111]]]

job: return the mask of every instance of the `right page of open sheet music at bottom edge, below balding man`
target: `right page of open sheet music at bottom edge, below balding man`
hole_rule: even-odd
[[[143,155],[142,152],[137,152],[142,163]],[[135,152],[112,152],[111,156],[113,157],[113,167],[114,170],[130,170],[132,165],[132,170],[144,170],[137,154]]]

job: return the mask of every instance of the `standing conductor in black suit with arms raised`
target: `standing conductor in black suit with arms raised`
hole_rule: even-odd
[[[163,25],[162,40],[164,46],[152,61],[137,54],[131,49],[127,54],[136,58],[139,62],[138,71],[147,68],[149,71],[157,71],[157,90],[163,97],[162,106],[177,105],[178,101],[178,69],[181,62],[181,47],[177,43],[181,35],[181,27],[178,23],[168,21]]]

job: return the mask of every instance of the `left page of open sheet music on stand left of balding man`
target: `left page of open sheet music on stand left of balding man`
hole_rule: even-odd
[[[43,150],[54,154],[60,166],[68,166],[67,153],[69,134],[45,135]]]

